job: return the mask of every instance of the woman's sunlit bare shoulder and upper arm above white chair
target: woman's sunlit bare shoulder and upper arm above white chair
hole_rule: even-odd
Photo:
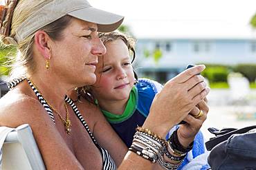
[[[8,92],[0,99],[0,105],[0,126],[28,123],[47,169],[82,169],[39,100]]]

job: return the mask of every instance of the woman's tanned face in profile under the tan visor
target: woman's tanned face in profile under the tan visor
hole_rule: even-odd
[[[106,48],[97,35],[97,25],[79,19],[62,32],[60,41],[53,41],[51,66],[53,74],[66,83],[80,87],[95,83],[94,74],[98,55],[105,54]]]

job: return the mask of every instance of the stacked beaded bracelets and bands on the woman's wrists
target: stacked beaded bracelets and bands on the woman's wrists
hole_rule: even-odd
[[[133,151],[152,163],[158,162],[163,169],[178,169],[188,151],[192,149],[193,142],[188,148],[184,148],[178,140],[177,130],[168,140],[165,140],[149,129],[137,127],[129,151]],[[167,162],[164,156],[172,162]]]

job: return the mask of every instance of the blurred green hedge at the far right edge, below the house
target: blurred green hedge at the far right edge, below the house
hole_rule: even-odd
[[[243,74],[250,83],[255,81],[256,78],[256,65],[255,64],[239,64],[233,68],[234,72]]]

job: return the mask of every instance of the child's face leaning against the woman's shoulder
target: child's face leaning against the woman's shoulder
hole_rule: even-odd
[[[135,78],[127,45],[118,39],[107,42],[105,46],[107,53],[99,56],[96,83],[91,91],[100,103],[128,100]]]

